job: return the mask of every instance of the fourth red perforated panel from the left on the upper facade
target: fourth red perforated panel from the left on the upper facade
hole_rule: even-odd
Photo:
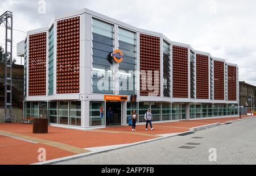
[[[172,47],[173,97],[188,98],[188,48]]]

